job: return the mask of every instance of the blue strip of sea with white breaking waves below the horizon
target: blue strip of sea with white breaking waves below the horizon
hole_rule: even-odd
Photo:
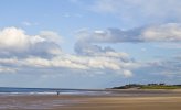
[[[105,90],[0,87],[0,95],[107,95]]]

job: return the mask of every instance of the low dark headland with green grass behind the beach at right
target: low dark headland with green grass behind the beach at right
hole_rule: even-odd
[[[181,85],[167,85],[161,84],[129,84],[125,86],[113,87],[111,89],[181,89]]]

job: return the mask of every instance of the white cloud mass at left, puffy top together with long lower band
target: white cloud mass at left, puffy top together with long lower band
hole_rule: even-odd
[[[58,43],[60,35],[55,32],[43,31],[39,35],[28,35],[22,29],[6,28],[0,31],[0,64],[6,68],[11,67],[14,72],[24,68],[56,68],[93,70],[106,73],[117,72],[123,76],[131,76],[131,65],[127,53],[115,52],[105,48],[92,55],[74,55],[62,52]],[[87,47],[88,50],[88,47]],[[9,73],[3,69],[0,73]],[[13,70],[12,70],[13,72]]]

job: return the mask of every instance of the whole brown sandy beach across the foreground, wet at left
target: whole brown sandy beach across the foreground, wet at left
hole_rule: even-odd
[[[128,92],[128,94],[126,94]],[[142,92],[142,94],[141,94]],[[114,90],[108,95],[0,95],[0,110],[181,110],[180,91]]]

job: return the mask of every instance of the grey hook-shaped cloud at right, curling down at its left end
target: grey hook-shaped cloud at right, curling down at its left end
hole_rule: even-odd
[[[75,52],[79,55],[95,55],[116,51],[111,47],[102,47],[109,43],[147,43],[147,42],[181,42],[181,24],[167,23],[148,25],[131,30],[107,29],[98,31],[81,30],[77,32]],[[98,45],[99,44],[99,45]]]

